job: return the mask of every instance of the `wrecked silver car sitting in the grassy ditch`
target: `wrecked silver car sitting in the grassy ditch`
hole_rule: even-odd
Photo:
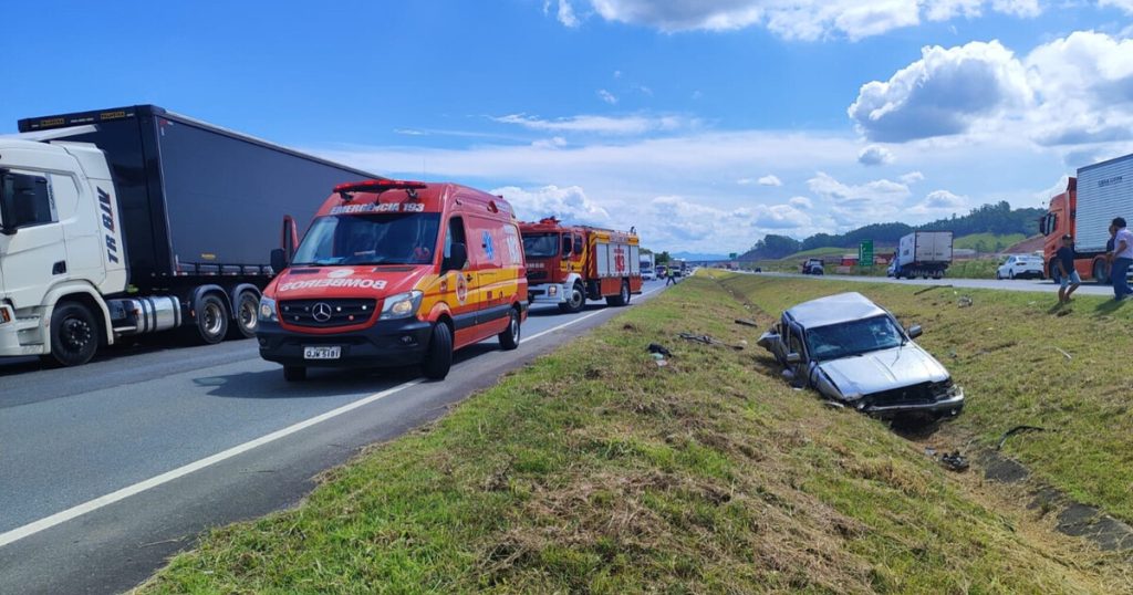
[[[858,292],[799,304],[759,338],[796,386],[877,417],[948,417],[964,391],[913,339],[920,325],[896,318]]]

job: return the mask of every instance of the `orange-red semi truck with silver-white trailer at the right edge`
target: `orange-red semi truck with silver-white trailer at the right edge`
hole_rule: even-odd
[[[1079,168],[1066,189],[1050,198],[1050,207],[1039,221],[1039,231],[1046,236],[1042,260],[1050,278],[1058,279],[1054,257],[1063,235],[1070,233],[1077,274],[1108,283],[1106,241],[1115,216],[1133,220],[1133,154]]]

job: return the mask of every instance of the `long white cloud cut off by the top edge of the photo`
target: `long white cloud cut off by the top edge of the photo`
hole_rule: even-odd
[[[1109,0],[1123,2],[1126,0]],[[663,32],[766,27],[790,40],[860,40],[929,20],[978,17],[985,8],[1019,17],[1040,12],[1038,0],[590,0],[610,22]],[[560,18],[561,20],[561,18]]]

